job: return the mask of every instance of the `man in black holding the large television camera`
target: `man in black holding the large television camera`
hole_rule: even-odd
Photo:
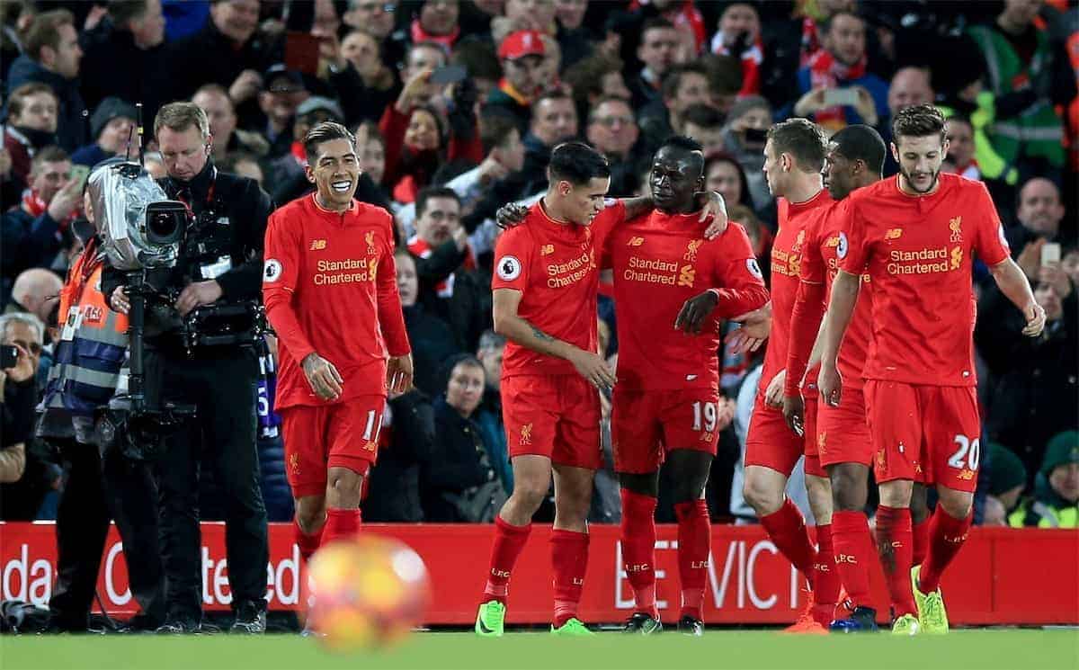
[[[148,317],[145,371],[151,404],[195,406],[195,419],[166,439],[158,463],[161,528],[168,584],[168,615],[160,632],[205,632],[202,625],[202,561],[199,528],[199,461],[213,469],[227,497],[226,547],[235,614],[233,632],[265,630],[267,512],[259,490],[256,451],[258,360],[249,343],[191,343],[175,318],[202,305],[257,305],[262,282],[262,244],[270,197],[251,179],[219,172],[210,160],[213,136],[206,113],[191,102],[158,112],[153,133],[167,176],[169,199],[190,209],[175,266],[150,271],[159,291],[179,290],[172,318]],[[159,275],[164,276],[159,276]],[[106,272],[110,306],[125,314],[131,297],[124,275]],[[148,315],[160,311],[148,310]],[[172,327],[169,327],[169,324]],[[188,320],[191,327],[191,320]],[[155,333],[155,329],[163,331]],[[196,330],[196,333],[199,331]]]

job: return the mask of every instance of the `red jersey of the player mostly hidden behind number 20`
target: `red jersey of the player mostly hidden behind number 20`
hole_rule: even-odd
[[[832,296],[832,282],[839,271],[839,258],[847,254],[850,244],[846,232],[844,232],[846,225],[845,202],[833,202],[828,207],[819,208],[820,216],[812,217],[809,221],[809,225],[806,228],[805,244],[802,247],[801,278],[807,284],[824,284],[823,300],[825,306]],[[858,292],[858,303],[855,306],[850,324],[847,326],[843,346],[839,347],[839,373],[843,375],[844,383],[851,388],[861,388],[864,381],[862,372],[865,369],[865,357],[870,345],[872,310],[872,282],[869,274],[863,273],[861,289]],[[805,333],[809,348],[812,348],[819,326],[818,323],[817,327],[812,328],[811,333]],[[792,324],[792,328],[798,327],[798,324]],[[806,359],[808,359],[809,352],[807,351],[805,354]],[[788,370],[788,372],[792,371]],[[803,371],[794,370],[793,372],[797,374]],[[788,377],[788,384],[792,381]]]

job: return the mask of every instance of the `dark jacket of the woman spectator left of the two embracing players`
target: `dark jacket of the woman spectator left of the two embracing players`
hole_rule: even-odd
[[[453,523],[461,519],[442,493],[461,493],[497,477],[487,456],[479,426],[446,402],[435,400],[435,448],[421,479],[423,511],[427,521]]]

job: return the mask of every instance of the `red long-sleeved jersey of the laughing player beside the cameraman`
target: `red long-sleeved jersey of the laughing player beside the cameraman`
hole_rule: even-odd
[[[270,216],[262,299],[281,358],[275,407],[325,405],[300,361],[312,353],[344,380],[336,402],[386,393],[386,357],[408,354],[393,218],[354,202],[344,214],[305,195]]]

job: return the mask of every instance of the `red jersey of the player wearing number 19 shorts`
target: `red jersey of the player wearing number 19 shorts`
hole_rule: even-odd
[[[720,320],[768,302],[746,230],[732,222],[702,237],[699,214],[653,210],[606,240],[603,266],[614,269],[618,384],[632,389],[718,388]],[[720,303],[698,336],[674,330],[686,300],[715,288]]]

